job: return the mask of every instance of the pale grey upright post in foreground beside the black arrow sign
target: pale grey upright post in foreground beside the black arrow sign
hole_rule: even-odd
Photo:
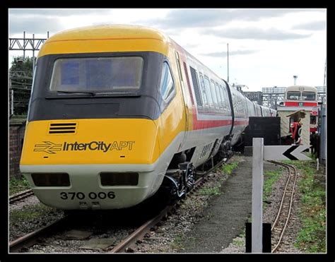
[[[252,138],[252,253],[263,250],[264,138]]]

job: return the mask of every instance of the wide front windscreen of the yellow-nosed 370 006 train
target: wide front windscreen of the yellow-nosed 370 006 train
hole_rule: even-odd
[[[129,93],[141,87],[142,71],[140,56],[57,59],[49,89],[59,93]]]

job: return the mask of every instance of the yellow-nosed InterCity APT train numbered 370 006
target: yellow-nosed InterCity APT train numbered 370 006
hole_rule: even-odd
[[[159,30],[66,30],[37,57],[20,171],[63,210],[136,206],[163,184],[182,197],[272,113]]]

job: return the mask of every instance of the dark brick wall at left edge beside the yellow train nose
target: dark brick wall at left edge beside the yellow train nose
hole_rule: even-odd
[[[25,121],[9,124],[9,177],[20,178],[20,156],[25,134]]]

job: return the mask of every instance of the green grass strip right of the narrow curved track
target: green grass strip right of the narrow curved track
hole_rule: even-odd
[[[299,169],[298,188],[302,195],[299,218],[302,229],[295,246],[308,253],[326,252],[326,192],[315,176],[315,160],[286,161]]]

